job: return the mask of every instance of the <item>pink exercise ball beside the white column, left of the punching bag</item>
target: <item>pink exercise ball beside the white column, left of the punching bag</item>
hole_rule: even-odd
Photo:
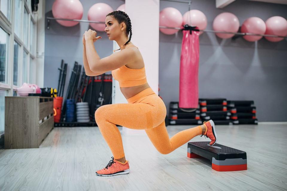
[[[165,27],[181,27],[182,15],[179,10],[173,7],[167,7],[160,11],[160,26]],[[160,32],[164,34],[174,34],[178,29],[160,28]]]

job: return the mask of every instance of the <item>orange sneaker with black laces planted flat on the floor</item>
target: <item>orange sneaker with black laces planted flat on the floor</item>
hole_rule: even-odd
[[[96,172],[98,176],[114,176],[114,175],[123,175],[130,172],[129,161],[121,163],[119,161],[110,160],[109,164],[101,170]]]

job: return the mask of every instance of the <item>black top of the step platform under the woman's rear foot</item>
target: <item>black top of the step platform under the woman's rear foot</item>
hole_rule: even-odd
[[[228,158],[247,159],[246,152],[244,151],[217,143],[213,146],[209,146],[208,144],[209,142],[206,141],[189,142],[187,147],[190,148],[190,153],[195,153],[210,160],[212,160],[212,157],[219,161],[224,161]]]

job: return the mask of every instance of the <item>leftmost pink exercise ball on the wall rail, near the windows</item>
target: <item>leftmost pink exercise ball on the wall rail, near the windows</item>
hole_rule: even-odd
[[[52,6],[52,14],[54,18],[60,19],[82,19],[83,5],[79,0],[56,0]],[[60,25],[72,27],[79,22],[56,20]]]

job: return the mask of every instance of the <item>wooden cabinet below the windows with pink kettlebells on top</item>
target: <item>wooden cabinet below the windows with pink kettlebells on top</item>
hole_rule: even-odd
[[[54,128],[53,98],[5,97],[5,149],[39,148]]]

